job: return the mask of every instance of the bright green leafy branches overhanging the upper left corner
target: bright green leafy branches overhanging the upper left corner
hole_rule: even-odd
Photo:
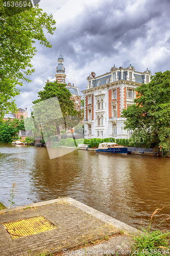
[[[5,112],[16,110],[16,85],[22,86],[23,80],[31,81],[28,75],[34,72],[31,59],[36,54],[35,41],[51,48],[44,31],[53,34],[56,29],[53,16],[42,12],[38,5],[17,12],[18,9],[6,8],[3,3],[0,0],[0,120]]]

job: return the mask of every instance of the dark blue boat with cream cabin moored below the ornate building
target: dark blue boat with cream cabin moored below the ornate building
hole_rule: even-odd
[[[109,143],[100,143],[99,147],[96,149],[96,152],[101,153],[113,153],[113,154],[128,154],[128,147],[120,146],[115,142]]]

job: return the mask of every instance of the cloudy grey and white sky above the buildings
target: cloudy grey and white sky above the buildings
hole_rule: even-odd
[[[54,79],[60,50],[66,83],[81,91],[91,71],[98,76],[114,64],[152,74],[170,69],[170,0],[40,0],[39,6],[56,20],[54,35],[47,34],[53,48],[36,44],[35,72],[20,88],[18,108],[31,112],[38,91]]]

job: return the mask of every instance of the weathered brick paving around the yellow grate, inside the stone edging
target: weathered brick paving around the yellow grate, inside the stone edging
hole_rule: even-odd
[[[55,202],[54,202],[55,201]],[[53,202],[53,203],[51,203]],[[44,216],[58,228],[12,239],[2,223]],[[36,255],[58,252],[117,233],[117,228],[62,199],[0,211],[0,255]]]

